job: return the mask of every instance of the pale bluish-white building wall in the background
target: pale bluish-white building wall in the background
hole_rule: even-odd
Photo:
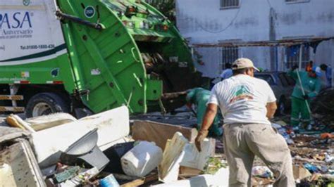
[[[239,8],[222,10],[220,0],[176,1],[177,26],[190,44],[217,44],[234,39],[268,41],[271,15],[275,39],[334,36],[334,0],[309,0],[303,3],[240,0]],[[315,55],[310,48],[310,60],[314,60],[317,65],[334,63],[332,48],[332,41],[323,41]],[[207,48],[199,52],[205,63],[199,70],[207,77],[218,76],[221,72],[217,70],[221,68],[221,51],[218,48]],[[242,47],[240,56],[251,58],[255,65],[264,69],[276,69],[271,65],[268,47]],[[280,48],[277,53],[277,70],[285,70],[284,60],[284,50]]]

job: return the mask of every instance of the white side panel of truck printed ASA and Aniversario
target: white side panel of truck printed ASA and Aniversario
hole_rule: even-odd
[[[0,65],[49,60],[66,53],[52,0],[0,1]]]

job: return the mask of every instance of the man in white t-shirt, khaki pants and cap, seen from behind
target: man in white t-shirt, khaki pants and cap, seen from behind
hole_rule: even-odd
[[[232,65],[233,77],[219,82],[211,90],[202,128],[195,139],[201,141],[221,108],[224,117],[224,149],[230,167],[230,186],[250,186],[254,156],[271,169],[274,186],[295,186],[290,150],[283,136],[268,121],[277,106],[267,82],[254,78],[252,60],[239,58]]]

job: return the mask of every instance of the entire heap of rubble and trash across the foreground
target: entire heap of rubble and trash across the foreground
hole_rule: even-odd
[[[6,122],[9,127],[0,127],[0,178],[8,179],[2,186],[228,186],[220,138],[206,138],[199,152],[196,129],[144,119],[130,128],[126,107],[80,120],[10,115]],[[283,121],[272,126],[290,147],[298,186],[333,185],[333,133],[304,134]],[[252,185],[274,181],[256,158]]]

